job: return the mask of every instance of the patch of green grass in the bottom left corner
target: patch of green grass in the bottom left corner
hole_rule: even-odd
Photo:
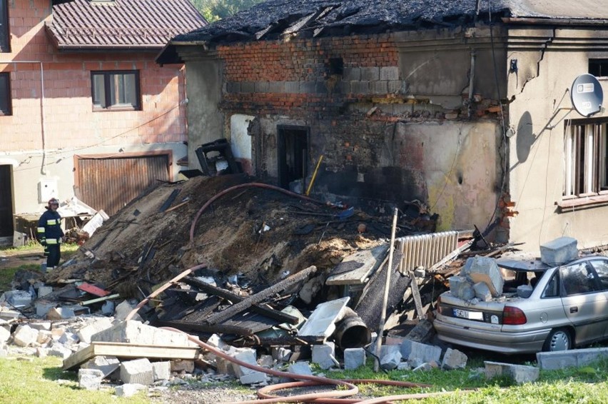
[[[113,388],[78,388],[78,374],[61,370],[60,358],[0,358],[0,403],[106,404],[150,403],[146,393],[118,398]]]

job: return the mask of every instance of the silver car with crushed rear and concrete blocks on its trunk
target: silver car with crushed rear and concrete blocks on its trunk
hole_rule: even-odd
[[[568,350],[608,339],[608,258],[589,256],[562,266],[497,260],[505,292],[465,301],[445,292],[437,300],[440,340],[499,353]],[[517,286],[532,286],[524,298]],[[528,291],[530,288],[527,288]]]

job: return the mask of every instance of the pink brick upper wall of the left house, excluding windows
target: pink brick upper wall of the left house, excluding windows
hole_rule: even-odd
[[[2,151],[40,150],[43,127],[46,148],[186,141],[179,66],[159,67],[153,52],[61,54],[44,30],[50,13],[50,0],[9,1],[11,53],[0,54],[0,71],[11,73],[13,115],[0,117]],[[93,111],[91,71],[133,69],[142,110]]]

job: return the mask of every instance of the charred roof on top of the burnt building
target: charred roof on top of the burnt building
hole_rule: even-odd
[[[214,24],[173,38],[173,43],[273,39],[285,33],[312,36],[462,25],[475,19],[476,0],[270,0]],[[607,0],[480,1],[480,16],[536,19],[608,19]]]

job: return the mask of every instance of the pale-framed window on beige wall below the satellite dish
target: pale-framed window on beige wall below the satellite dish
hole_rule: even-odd
[[[564,197],[608,193],[608,119],[566,122]]]

